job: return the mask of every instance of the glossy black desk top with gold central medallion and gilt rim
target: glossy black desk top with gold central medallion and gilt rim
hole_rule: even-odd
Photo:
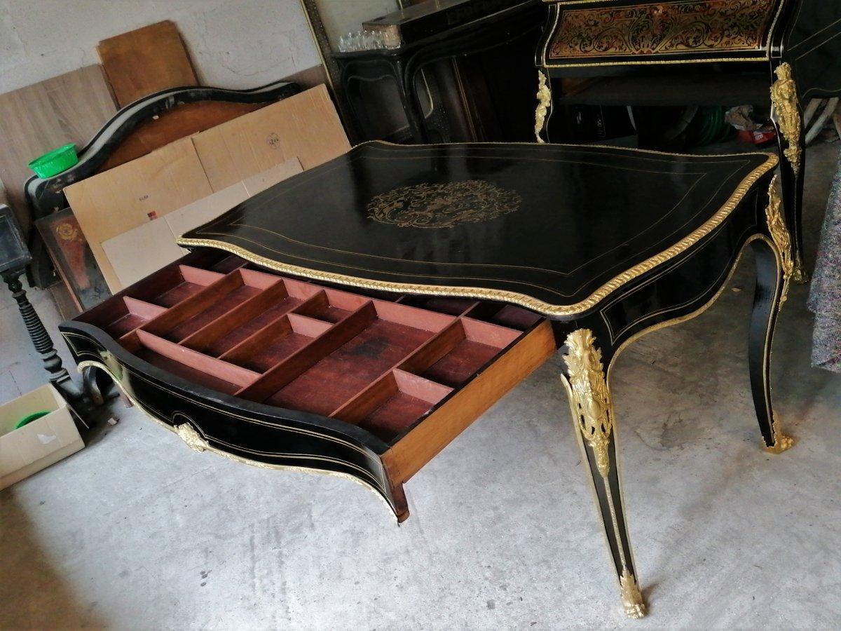
[[[722,225],[776,156],[374,141],[188,231],[305,278],[583,314]]]

